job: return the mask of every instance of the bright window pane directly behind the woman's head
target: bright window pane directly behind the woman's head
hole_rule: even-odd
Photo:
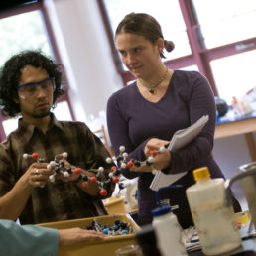
[[[162,27],[164,39],[175,43],[175,51],[165,52],[167,60],[190,55],[191,48],[178,1],[166,0],[104,0],[113,33],[125,15],[143,12],[155,17]],[[162,8],[161,8],[162,6]]]

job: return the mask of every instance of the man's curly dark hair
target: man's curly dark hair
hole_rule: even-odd
[[[5,116],[15,117],[20,114],[20,104],[14,102],[18,98],[16,87],[19,85],[21,70],[26,65],[44,68],[50,77],[55,78],[53,105],[64,94],[62,88],[63,65],[56,64],[41,51],[22,51],[11,57],[0,69],[0,104],[1,112]]]

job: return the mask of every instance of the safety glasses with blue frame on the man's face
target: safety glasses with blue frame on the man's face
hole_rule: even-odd
[[[24,83],[17,86],[16,89],[19,90],[20,95],[23,95],[24,97],[29,97],[35,96],[37,94],[39,86],[43,91],[49,93],[55,90],[55,78],[48,77],[42,81]]]

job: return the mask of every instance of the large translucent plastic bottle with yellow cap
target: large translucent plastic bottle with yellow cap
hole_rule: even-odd
[[[233,208],[224,203],[224,180],[211,179],[207,167],[194,170],[193,177],[196,183],[186,194],[203,253],[217,255],[239,247]]]

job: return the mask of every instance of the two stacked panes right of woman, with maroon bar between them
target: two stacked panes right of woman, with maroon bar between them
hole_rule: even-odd
[[[232,96],[239,98],[256,86],[255,50],[252,50],[255,42],[250,41],[255,37],[252,24],[256,23],[256,1],[193,0],[192,3],[201,29],[204,44],[201,47],[218,49],[209,60],[217,93],[231,104]]]

